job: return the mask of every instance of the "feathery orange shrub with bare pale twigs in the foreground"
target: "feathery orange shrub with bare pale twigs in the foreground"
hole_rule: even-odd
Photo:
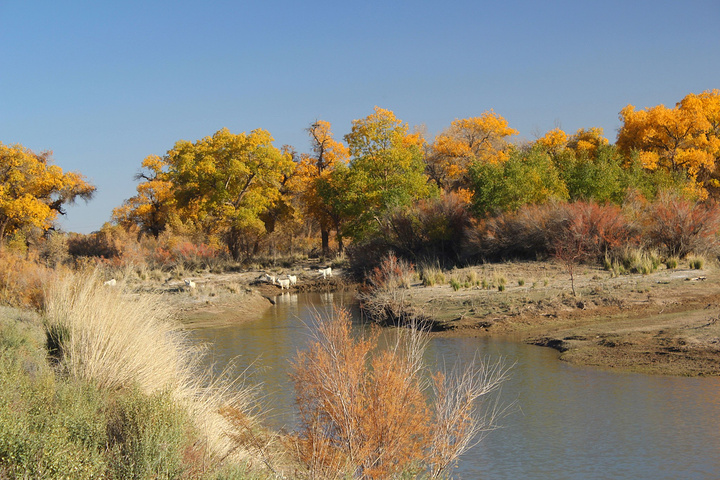
[[[309,478],[439,478],[495,425],[498,410],[477,407],[507,376],[503,364],[431,376],[420,329],[379,348],[380,330],[356,335],[345,310],[315,327],[291,372],[301,422],[292,450]]]

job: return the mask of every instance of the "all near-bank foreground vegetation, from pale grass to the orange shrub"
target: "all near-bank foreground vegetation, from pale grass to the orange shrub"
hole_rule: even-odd
[[[55,275],[39,311],[0,310],[8,478],[444,478],[502,413],[486,397],[506,365],[430,377],[421,328],[378,349],[379,331],[356,339],[340,311],[292,370],[300,429],[269,432],[253,388],[203,369],[160,298]]]

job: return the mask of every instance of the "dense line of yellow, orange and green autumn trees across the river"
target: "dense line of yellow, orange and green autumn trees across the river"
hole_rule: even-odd
[[[64,238],[63,248],[74,258],[142,257],[162,266],[187,259],[331,257],[349,247],[362,270],[389,251],[446,263],[544,255],[548,249],[536,242],[511,248],[488,240],[498,224],[531,206],[555,209],[568,224],[573,208],[567,203],[616,205],[625,237],[633,239],[630,232],[652,230],[649,220],[637,226],[631,205],[638,202],[649,211],[675,197],[712,213],[720,195],[720,91],[689,94],[673,108],[628,105],[620,119],[615,144],[599,128],[573,134],[556,128],[531,142],[513,141],[517,131],[494,111],[455,120],[430,140],[376,107],[353,121],[344,142],[328,122],[314,122],[307,128],[309,153],[277,148],[262,129],[222,129],[145,158],[137,194],[113,211],[113,223],[90,236]],[[18,168],[9,161],[17,152],[44,158],[21,146],[3,147],[4,171]],[[44,208],[56,211],[93,191],[77,174],[66,184],[30,198],[44,198]],[[54,216],[47,212],[18,222],[27,194],[5,187],[0,193],[0,235],[27,242],[38,236],[33,230],[51,226]],[[651,236],[635,241],[643,242],[659,245]]]

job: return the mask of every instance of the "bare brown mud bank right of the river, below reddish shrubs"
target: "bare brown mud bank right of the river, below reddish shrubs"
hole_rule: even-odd
[[[599,268],[579,270],[575,297],[561,266],[529,262],[452,273],[487,279],[488,284],[504,279],[504,291],[416,284],[401,294],[401,301],[430,318],[437,335],[511,337],[555,348],[561,359],[579,365],[720,375],[716,271],[663,269],[611,277]]]

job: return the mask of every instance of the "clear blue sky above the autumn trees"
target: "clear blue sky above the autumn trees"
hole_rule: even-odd
[[[0,0],[0,142],[52,150],[98,192],[90,232],[150,154],[222,127],[309,149],[378,105],[430,139],[494,109],[520,138],[720,88],[720,1]]]

